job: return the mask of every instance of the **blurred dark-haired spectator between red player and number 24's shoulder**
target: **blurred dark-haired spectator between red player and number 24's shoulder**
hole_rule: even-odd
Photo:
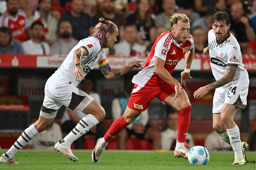
[[[201,27],[197,26],[193,29],[192,35],[194,37],[195,53],[203,54],[206,43],[204,41],[204,31]]]

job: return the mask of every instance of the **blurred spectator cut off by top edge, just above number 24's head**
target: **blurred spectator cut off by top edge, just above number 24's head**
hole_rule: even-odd
[[[195,11],[198,12],[201,17],[205,16],[209,10],[215,8],[220,11],[225,11],[226,9],[226,2],[225,0],[216,0],[216,1],[209,1],[209,0],[195,0]]]

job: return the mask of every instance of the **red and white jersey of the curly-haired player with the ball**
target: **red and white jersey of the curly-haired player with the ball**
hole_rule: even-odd
[[[185,43],[178,44],[173,39],[171,31],[164,32],[156,39],[144,68],[133,77],[132,82],[145,88],[162,85],[165,81],[154,72],[155,57],[166,61],[164,68],[171,74],[181,58],[193,47],[194,38],[191,34],[188,35]]]

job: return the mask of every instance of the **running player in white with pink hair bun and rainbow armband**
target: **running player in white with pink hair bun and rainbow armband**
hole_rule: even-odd
[[[12,147],[0,157],[0,163],[17,164],[13,160],[14,155],[34,136],[50,126],[62,105],[86,114],[76,127],[54,146],[55,150],[68,159],[74,162],[78,161],[70,149],[71,143],[88,132],[106,115],[101,105],[77,88],[78,84],[96,65],[107,79],[115,79],[130,70],[143,68],[141,60],[134,61],[121,69],[111,68],[103,48],[111,48],[117,41],[118,28],[113,22],[105,21],[103,18],[100,18],[99,21],[94,27],[94,34],[80,40],[57,71],[47,80],[39,119],[22,132]]]

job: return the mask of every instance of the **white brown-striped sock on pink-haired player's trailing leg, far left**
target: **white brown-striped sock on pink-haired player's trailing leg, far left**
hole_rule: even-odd
[[[33,139],[36,135],[38,135],[39,132],[36,130],[34,124],[32,124],[30,127],[26,128],[20,137],[17,139],[17,141],[12,145],[12,147],[6,152],[7,156],[9,158],[13,158],[14,155],[21,150],[24,146],[29,143],[31,139]],[[6,155],[5,155],[6,156]]]

